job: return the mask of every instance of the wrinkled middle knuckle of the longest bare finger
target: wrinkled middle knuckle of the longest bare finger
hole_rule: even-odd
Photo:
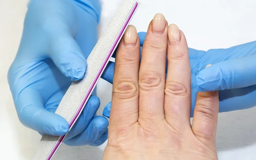
[[[139,79],[139,87],[145,91],[159,89],[162,84],[160,76],[154,73],[147,73]]]

